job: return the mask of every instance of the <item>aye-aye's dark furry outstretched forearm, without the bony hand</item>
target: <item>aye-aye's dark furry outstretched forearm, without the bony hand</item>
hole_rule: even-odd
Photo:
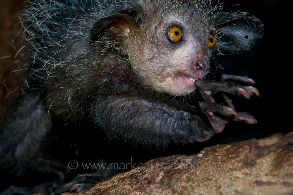
[[[200,116],[149,99],[112,96],[91,112],[109,135],[143,145],[188,143],[214,135]]]

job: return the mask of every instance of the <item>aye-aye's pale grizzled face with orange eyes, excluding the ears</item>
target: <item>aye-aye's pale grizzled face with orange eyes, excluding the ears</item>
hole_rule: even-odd
[[[216,32],[203,10],[167,6],[165,2],[139,15],[138,28],[130,31],[122,46],[143,81],[156,91],[185,95],[209,72]]]

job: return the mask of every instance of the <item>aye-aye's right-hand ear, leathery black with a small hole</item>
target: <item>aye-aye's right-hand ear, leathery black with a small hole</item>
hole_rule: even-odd
[[[245,13],[222,12],[219,24],[219,50],[222,54],[242,53],[250,50],[263,37],[263,23]]]

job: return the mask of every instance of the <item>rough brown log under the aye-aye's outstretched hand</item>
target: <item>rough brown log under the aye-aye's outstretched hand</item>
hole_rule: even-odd
[[[84,195],[289,195],[293,194],[292,143],[293,132],[287,135],[275,134],[261,140],[207,147],[190,156],[161,157],[98,183]],[[173,169],[167,163],[170,166],[173,163]],[[195,169],[190,169],[190,166],[183,168],[183,163],[198,166]],[[224,163],[224,167],[214,168],[213,163]],[[149,164],[161,164],[163,168],[149,168]]]

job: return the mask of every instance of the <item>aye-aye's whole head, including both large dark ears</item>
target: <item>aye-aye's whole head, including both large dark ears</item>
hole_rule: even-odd
[[[263,36],[260,20],[224,12],[210,0],[143,0],[128,7],[98,20],[93,40],[118,43],[142,81],[173,95],[193,91],[214,53],[247,51]]]

